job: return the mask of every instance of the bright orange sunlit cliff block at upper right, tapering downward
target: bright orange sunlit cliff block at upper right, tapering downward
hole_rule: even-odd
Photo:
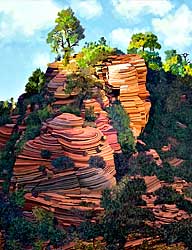
[[[139,136],[149,118],[151,103],[146,90],[147,68],[138,55],[111,56],[97,65],[97,75],[112,90],[129,114],[134,135]]]

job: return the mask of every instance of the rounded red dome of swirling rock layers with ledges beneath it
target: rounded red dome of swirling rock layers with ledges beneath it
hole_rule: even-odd
[[[72,208],[78,208],[80,212],[100,211],[101,190],[116,184],[113,149],[99,129],[82,128],[82,125],[81,117],[68,113],[48,120],[41,135],[25,144],[14,166],[16,186],[23,185],[30,191],[26,194],[26,209],[40,205],[57,211],[63,225],[80,221],[77,211],[72,212]],[[41,150],[49,150],[50,159],[43,159]],[[56,169],[52,160],[61,156],[70,157],[75,167]],[[103,169],[89,167],[90,156],[103,157],[106,166]],[[44,166],[43,170],[40,166]],[[36,193],[35,197],[32,193]],[[91,203],[92,207],[81,206],[82,201]]]

